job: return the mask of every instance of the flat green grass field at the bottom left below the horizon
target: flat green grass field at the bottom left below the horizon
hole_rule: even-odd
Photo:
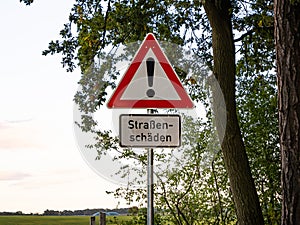
[[[131,216],[107,216],[107,225],[120,225]],[[89,225],[90,216],[0,216],[0,225]],[[99,224],[99,216],[96,217]]]

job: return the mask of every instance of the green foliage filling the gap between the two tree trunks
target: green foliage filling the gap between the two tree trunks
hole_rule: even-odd
[[[273,9],[257,2],[245,22],[255,19],[256,32],[243,37],[237,62],[237,106],[252,175],[265,222],[280,224],[280,151],[277,88],[274,71]],[[261,16],[259,16],[259,14]],[[253,22],[251,22],[253,23]]]

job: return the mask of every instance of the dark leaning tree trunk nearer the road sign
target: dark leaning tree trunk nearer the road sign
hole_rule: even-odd
[[[262,211],[236,113],[235,48],[230,8],[229,0],[204,1],[204,9],[212,27],[213,72],[223,93],[226,107],[226,127],[221,148],[230,179],[238,224],[260,225],[264,223]],[[217,102],[218,99],[214,101]],[[220,131],[222,116],[218,110],[215,113],[217,130]]]

